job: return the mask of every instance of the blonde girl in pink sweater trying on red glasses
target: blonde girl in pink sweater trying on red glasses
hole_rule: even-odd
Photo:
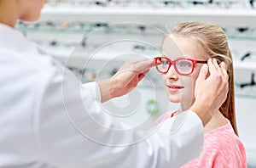
[[[182,57],[173,52],[172,42],[183,53]],[[223,61],[228,66],[227,98],[204,127],[204,147],[200,157],[183,165],[183,168],[246,168],[245,148],[237,137],[233,64],[224,31],[208,23],[179,23],[163,38],[162,51],[164,55],[155,58],[155,66],[163,74],[169,100],[180,103],[180,111],[189,109],[195,102],[195,81],[201,65],[207,59],[212,58],[213,62]],[[178,112],[167,114],[164,120]]]

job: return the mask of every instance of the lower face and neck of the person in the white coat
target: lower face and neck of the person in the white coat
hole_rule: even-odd
[[[19,0],[20,20],[36,21],[39,19],[41,9],[48,0]]]

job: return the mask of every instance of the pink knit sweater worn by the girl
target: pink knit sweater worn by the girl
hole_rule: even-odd
[[[164,120],[171,116],[170,113],[167,113]],[[163,121],[163,118],[161,118],[161,121]],[[182,166],[182,168],[210,167],[247,168],[245,148],[233,131],[230,120],[226,125],[207,132],[204,136],[201,155]]]

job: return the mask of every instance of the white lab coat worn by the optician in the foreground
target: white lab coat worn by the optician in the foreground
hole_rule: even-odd
[[[63,70],[19,31],[0,24],[0,167],[179,167],[200,154],[203,127],[192,111],[177,132],[166,120],[143,141],[122,146],[139,134],[117,138],[113,129],[94,125],[91,116],[123,129],[101,109],[95,82],[80,86],[72,73],[63,79]],[[83,129],[120,147],[95,143]]]

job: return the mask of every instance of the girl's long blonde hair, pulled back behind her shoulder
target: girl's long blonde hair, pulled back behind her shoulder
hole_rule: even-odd
[[[230,53],[227,36],[224,31],[217,25],[205,22],[181,22],[173,25],[172,30],[169,31],[166,36],[170,34],[188,37],[189,40],[199,43],[207,53],[207,58],[216,58],[218,61],[224,61],[228,66],[229,92],[227,99],[219,110],[224,117],[230,120],[234,132],[238,135],[236,127],[232,55]]]

